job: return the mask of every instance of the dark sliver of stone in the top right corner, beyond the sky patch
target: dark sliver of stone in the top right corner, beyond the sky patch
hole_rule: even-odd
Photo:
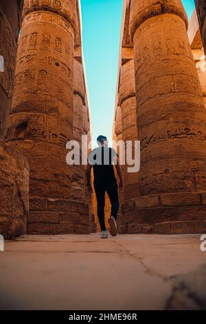
[[[195,0],[196,12],[201,28],[201,36],[203,39],[203,47],[206,55],[206,3],[205,0]]]

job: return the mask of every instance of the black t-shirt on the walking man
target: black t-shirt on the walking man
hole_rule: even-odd
[[[115,177],[113,159],[118,156],[113,148],[100,146],[91,151],[88,161],[93,165],[95,181],[117,181]]]

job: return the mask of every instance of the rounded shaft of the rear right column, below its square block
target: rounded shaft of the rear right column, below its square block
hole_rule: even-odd
[[[135,66],[130,59],[121,67],[119,82],[119,105],[122,112],[122,140],[137,141],[137,110],[135,97]],[[124,165],[124,201],[139,196],[139,174],[128,173]]]

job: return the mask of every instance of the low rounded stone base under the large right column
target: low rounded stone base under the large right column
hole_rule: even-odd
[[[206,192],[159,194],[126,201],[122,205],[119,232],[206,233]]]

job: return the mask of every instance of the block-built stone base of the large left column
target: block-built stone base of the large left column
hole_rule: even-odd
[[[92,222],[87,203],[30,197],[27,234],[90,234]]]

